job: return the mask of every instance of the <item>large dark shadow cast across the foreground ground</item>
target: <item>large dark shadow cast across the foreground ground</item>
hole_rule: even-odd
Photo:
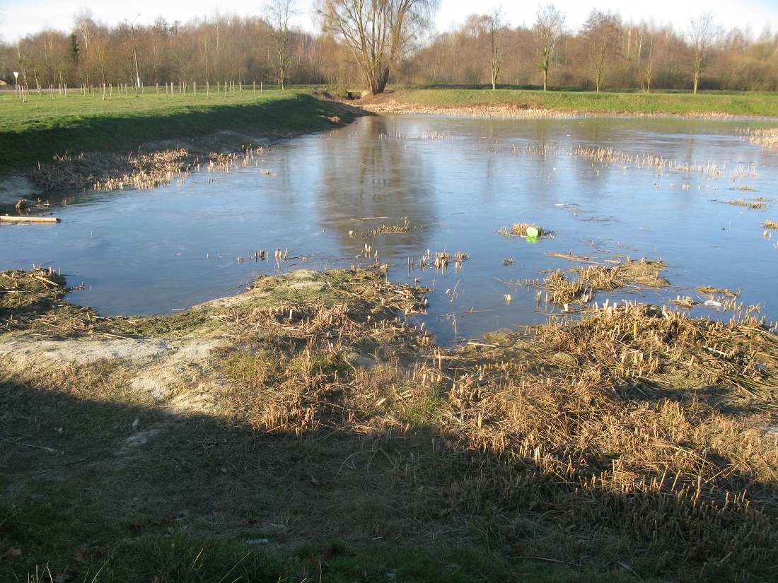
[[[670,477],[619,491],[607,452],[492,453],[423,423],[340,428],[326,407],[296,434],[90,397],[108,367],[79,372],[78,399],[0,383],[0,553],[20,551],[0,580],[504,581],[518,568],[628,581],[770,566],[754,557],[774,552],[774,521],[745,493],[718,500]]]

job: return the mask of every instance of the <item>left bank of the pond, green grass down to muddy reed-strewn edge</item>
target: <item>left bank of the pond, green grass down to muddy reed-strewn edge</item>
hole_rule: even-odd
[[[317,94],[251,90],[109,101],[72,92],[37,103],[6,95],[0,112],[3,213],[19,199],[46,201],[61,189],[154,187],[198,165],[229,165],[249,150],[366,114]]]

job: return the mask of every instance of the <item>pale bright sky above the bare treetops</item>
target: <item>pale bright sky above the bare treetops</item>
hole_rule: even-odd
[[[109,26],[116,26],[125,19],[140,25],[151,24],[157,16],[168,22],[205,18],[215,13],[218,6],[221,14],[235,13],[240,16],[261,16],[264,0],[253,2],[214,2],[213,0],[134,0],[121,2],[111,0],[0,0],[0,40],[16,42],[28,34],[50,28],[72,30],[74,16],[83,10],[92,12],[93,19]],[[502,9],[511,26],[531,26],[535,14],[545,0],[526,2],[517,0],[441,0],[440,12],[436,18],[439,32],[461,25],[473,13],[485,14],[493,9]],[[653,19],[657,25],[670,24],[682,32],[688,29],[689,19],[710,10],[725,30],[738,27],[752,36],[758,36],[766,26],[778,32],[778,1],[776,0],[651,0],[650,2],[624,2],[623,0],[555,0],[550,2],[566,14],[566,24],[572,30],[580,28],[592,9],[602,12],[618,12],[625,21]],[[301,14],[296,23],[307,30],[317,30],[312,17],[314,0],[296,0]]]

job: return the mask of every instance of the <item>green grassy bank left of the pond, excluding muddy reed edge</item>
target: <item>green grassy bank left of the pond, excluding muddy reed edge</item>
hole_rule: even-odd
[[[282,137],[338,127],[352,118],[344,108],[305,93],[216,93],[204,90],[157,96],[31,94],[23,103],[0,93],[0,172],[29,170],[37,162],[81,152],[136,151],[154,141],[200,138],[219,131]]]

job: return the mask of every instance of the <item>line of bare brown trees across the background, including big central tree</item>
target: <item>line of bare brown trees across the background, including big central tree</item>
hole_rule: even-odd
[[[594,9],[573,30],[563,12],[545,4],[531,26],[511,26],[495,9],[433,33],[439,6],[439,0],[317,0],[317,33],[292,26],[299,14],[294,0],[268,0],[258,16],[216,13],[187,23],[159,17],[150,25],[124,20],[107,26],[82,11],[68,33],[42,30],[0,44],[0,79],[30,91],[230,82],[359,84],[381,93],[390,80],[596,91],[778,90],[778,33],[725,30],[710,12],[675,30]]]

